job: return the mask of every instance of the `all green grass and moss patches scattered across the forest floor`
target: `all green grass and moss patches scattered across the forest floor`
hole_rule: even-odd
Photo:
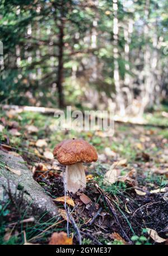
[[[0,113],[0,117],[6,116],[5,112]],[[158,124],[158,125],[167,125],[167,120],[161,116],[161,112],[154,112],[151,114],[145,114],[144,117],[150,124]],[[125,175],[130,168],[137,164],[136,170],[138,171],[137,181],[138,186],[146,186],[149,189],[154,188],[164,188],[167,185],[167,180],[165,176],[159,176],[155,173],[152,173],[151,167],[146,167],[146,161],[143,158],[137,160],[137,154],[146,152],[150,154],[152,157],[156,156],[160,152],[162,152],[163,147],[166,148],[166,145],[155,145],[155,147],[151,148],[148,145],[145,145],[140,140],[141,135],[149,136],[150,139],[154,138],[157,139],[158,135],[161,135],[161,138],[168,138],[168,131],[152,128],[152,127],[144,127],[144,134],[137,131],[137,134],[132,134],[131,128],[127,125],[119,125],[116,126],[116,134],[110,140],[108,137],[103,138],[96,134],[94,131],[55,131],[53,130],[54,126],[54,117],[41,115],[40,113],[33,113],[33,112],[22,112],[18,116],[9,118],[6,117],[6,121],[13,122],[17,121],[19,125],[19,132],[21,132],[21,136],[13,136],[10,133],[10,127],[7,125],[5,129],[0,132],[0,141],[1,143],[6,143],[7,139],[10,141],[10,145],[13,147],[21,148],[19,150],[22,153],[22,150],[27,150],[29,152],[35,153],[35,150],[39,150],[40,154],[43,154],[45,148],[36,148],[34,145],[31,145],[32,141],[36,141],[38,139],[46,139],[47,141],[47,148],[52,151],[55,144],[59,143],[63,139],[73,138],[73,137],[81,137],[83,139],[88,140],[91,144],[93,144],[99,154],[105,154],[105,148],[109,147],[113,152],[117,154],[117,157],[109,157],[105,163],[97,163],[97,165],[93,169],[88,170],[89,173],[92,173],[94,176],[95,181],[99,184],[100,188],[108,193],[113,198],[116,198],[115,208],[117,209],[118,213],[122,216],[123,220],[125,220],[125,225],[128,225],[130,230],[132,231],[133,242],[135,244],[146,244],[149,243],[146,240],[145,233],[142,231],[142,234],[136,233],[134,227],[132,227],[132,223],[130,223],[128,216],[127,216],[127,209],[125,208],[125,200],[127,199],[128,202],[132,202],[134,207],[139,207],[139,201],[136,201],[132,196],[132,188],[129,188],[125,185],[124,182],[115,182],[115,184],[104,184],[104,174],[107,170],[109,170],[111,164],[114,161],[118,161],[119,159],[127,159],[127,167],[123,167],[122,175]],[[27,134],[26,125],[35,125],[38,127],[39,131],[37,134]],[[152,130],[154,134],[146,135],[148,130]],[[153,137],[152,137],[153,136]],[[159,141],[159,140],[158,140]],[[137,148],[137,143],[143,144],[144,148],[141,149]],[[140,145],[141,146],[141,145]],[[1,159],[0,159],[1,160]],[[31,161],[32,166],[34,165],[33,160]],[[150,161],[155,167],[160,168],[162,167],[162,163],[160,163],[160,158],[152,158]],[[1,167],[0,161],[0,167]],[[44,185],[44,182],[41,183]],[[92,186],[88,184],[88,189],[92,191]],[[139,200],[139,199],[138,199]],[[96,198],[96,203],[102,203],[102,196],[98,195]],[[107,205],[103,205],[103,211],[108,210]],[[40,243],[40,244],[47,244],[49,237],[52,235],[53,232],[65,231],[66,232],[66,222],[62,222],[62,218],[60,216],[56,216],[51,218],[50,220],[46,220],[45,215],[41,216],[38,220],[36,220],[33,225],[30,223],[21,224],[18,220],[23,220],[28,218],[27,213],[21,211],[21,215],[17,218],[17,225],[15,227],[16,233],[13,231],[10,239],[8,241],[4,241],[3,237],[6,234],[6,228],[9,226],[11,222],[15,222],[15,218],[12,220],[9,219],[12,216],[13,211],[17,211],[15,207],[12,205],[10,201],[7,202],[6,205],[0,205],[0,244],[23,244],[24,243],[24,234],[23,231],[26,233],[27,241],[32,243]],[[126,213],[125,213],[126,211]],[[53,228],[49,228],[50,226],[54,225]],[[78,225],[83,225],[84,221],[79,216]],[[49,229],[48,229],[49,228]],[[70,229],[73,232],[73,229]],[[36,237],[36,239],[33,239]],[[99,236],[100,242],[103,244],[122,244],[122,241],[114,240],[111,242],[108,238],[104,238],[103,236]],[[82,240],[83,244],[91,244],[92,241],[87,239],[86,237]]]

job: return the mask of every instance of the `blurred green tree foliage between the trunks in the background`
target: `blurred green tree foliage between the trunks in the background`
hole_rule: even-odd
[[[132,4],[118,1],[119,76],[123,87],[125,75],[134,80],[134,84],[131,82],[133,89],[128,86],[134,98],[143,82],[139,80],[139,74],[143,73],[146,45],[150,45],[151,52],[155,49],[152,40],[156,33],[158,39],[162,36],[163,44],[167,40],[166,0],[150,2],[148,18],[144,16],[145,4],[145,1]],[[103,94],[115,101],[113,1],[100,0],[94,6],[90,1],[84,3],[82,0],[2,0],[0,12],[4,61],[0,75],[0,100],[20,105],[58,106],[59,29],[63,20],[62,89],[66,102],[82,105],[81,99],[85,99],[88,89],[96,90],[100,98]],[[130,32],[130,56],[127,60],[124,33],[129,21],[133,21],[134,26]],[[150,26],[148,38],[143,34],[145,22]],[[161,70],[164,70],[164,48],[159,46],[157,49]],[[93,66],[97,70],[96,79]],[[167,92],[165,84],[159,86]]]

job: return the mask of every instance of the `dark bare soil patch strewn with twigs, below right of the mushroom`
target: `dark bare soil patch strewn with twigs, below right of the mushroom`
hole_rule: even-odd
[[[45,183],[44,180],[43,182]],[[50,195],[53,197],[64,195],[62,177],[51,178],[48,182],[49,184],[45,184],[43,187]],[[94,187],[94,184],[90,183],[87,185],[85,194],[91,199],[89,204],[81,202],[80,193],[71,195],[74,203],[77,205],[73,217],[76,223],[81,226],[84,236],[87,237],[90,234],[92,238],[99,241],[103,239],[111,240],[110,235],[116,232],[127,242],[130,242],[133,235],[142,235],[142,228],[152,228],[161,237],[166,239],[168,202],[164,200],[161,193],[147,193],[144,196],[139,196],[136,195],[133,189],[130,189],[129,193],[121,191],[117,195],[108,194],[113,204],[116,218],[122,229],[114,215],[111,214],[103,196]],[[100,208],[102,208],[102,211],[92,225],[90,225],[90,220],[92,220]],[[124,237],[124,233],[127,235],[126,237]],[[147,239],[149,238],[148,234],[144,236]],[[96,241],[94,243],[97,244]],[[150,239],[150,243],[155,244],[152,239]]]

